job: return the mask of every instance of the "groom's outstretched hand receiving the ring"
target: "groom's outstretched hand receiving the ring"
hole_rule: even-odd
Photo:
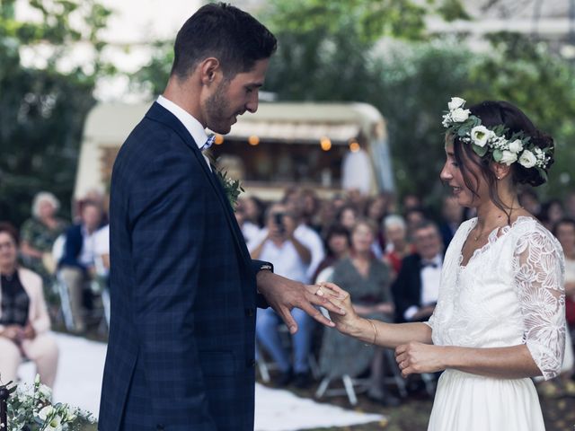
[[[321,306],[329,312],[345,314],[340,307],[330,302],[329,297],[334,294],[329,289],[304,285],[270,271],[260,271],[257,277],[258,291],[265,296],[271,308],[286,322],[291,334],[297,331],[297,323],[291,315],[292,308],[299,308],[316,321],[330,327],[334,327],[334,323],[323,316],[316,306]]]

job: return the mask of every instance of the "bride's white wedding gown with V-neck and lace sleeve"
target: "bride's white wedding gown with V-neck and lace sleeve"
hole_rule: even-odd
[[[464,222],[447,249],[433,343],[458,347],[526,344],[545,379],[565,346],[561,245],[531,217],[493,231],[465,267],[461,250],[477,219]],[[538,431],[544,421],[531,379],[499,379],[446,370],[428,431]]]

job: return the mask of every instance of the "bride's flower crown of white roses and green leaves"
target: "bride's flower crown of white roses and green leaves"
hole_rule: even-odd
[[[519,163],[526,169],[535,168],[547,180],[545,169],[551,157],[548,155],[553,148],[543,150],[531,142],[531,136],[523,132],[514,133],[509,139],[505,137],[508,128],[502,124],[489,129],[482,126],[482,120],[465,110],[465,101],[460,97],[452,97],[447,104],[449,110],[443,116],[443,127],[447,133],[457,136],[465,144],[471,144],[475,154],[483,157],[491,154],[497,163]]]

